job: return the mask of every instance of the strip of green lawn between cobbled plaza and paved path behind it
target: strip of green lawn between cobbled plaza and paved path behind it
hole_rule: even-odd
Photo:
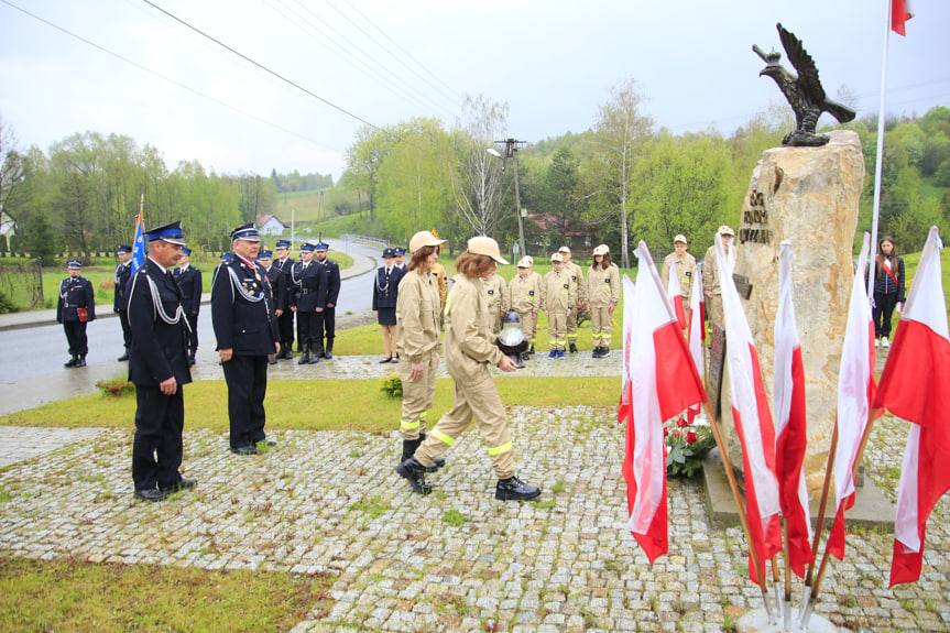
[[[267,425],[275,429],[358,430],[389,433],[398,427],[402,401],[380,391],[381,380],[323,380],[320,389],[313,381],[283,380],[267,384],[264,406]],[[495,380],[506,405],[564,407],[575,405],[616,406],[620,378],[585,379],[585,389],[576,389],[572,378],[514,378]],[[185,385],[186,428],[228,430],[228,388],[223,381],[200,381]],[[436,397],[429,419],[436,421],[452,404],[450,379],[436,381]],[[302,411],[319,407],[319,416]],[[354,414],[353,412],[359,412]],[[0,416],[0,425],[58,427],[129,427],[135,417],[135,397],[84,395],[68,401],[44,404]]]

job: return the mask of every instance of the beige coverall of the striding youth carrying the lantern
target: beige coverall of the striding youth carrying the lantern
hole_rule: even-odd
[[[495,476],[500,480],[514,477],[507,415],[489,372],[489,364],[496,365],[504,354],[492,342],[488,302],[479,280],[458,275],[446,301],[445,317],[446,370],[452,378],[455,403],[416,449],[416,460],[432,466],[474,417]]]

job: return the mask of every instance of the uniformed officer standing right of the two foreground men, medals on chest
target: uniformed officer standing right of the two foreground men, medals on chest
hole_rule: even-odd
[[[261,248],[254,223],[231,231],[231,243],[233,258],[211,281],[211,323],[228,383],[231,452],[255,455],[258,443],[266,441],[267,356],[281,346],[271,282],[254,263]]]

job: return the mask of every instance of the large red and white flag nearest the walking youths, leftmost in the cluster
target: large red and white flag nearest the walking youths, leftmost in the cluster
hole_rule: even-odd
[[[640,266],[631,302],[627,359],[633,416],[626,426],[623,476],[627,528],[652,564],[668,549],[663,423],[689,405],[705,402],[706,391],[646,243],[641,241],[635,253]]]

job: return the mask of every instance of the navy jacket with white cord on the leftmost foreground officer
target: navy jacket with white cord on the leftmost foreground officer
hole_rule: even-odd
[[[155,305],[153,287],[161,306]],[[155,386],[173,375],[178,384],[192,382],[188,370],[188,325],[182,291],[171,274],[145,258],[129,284],[129,380]],[[166,323],[165,318],[174,323]]]

